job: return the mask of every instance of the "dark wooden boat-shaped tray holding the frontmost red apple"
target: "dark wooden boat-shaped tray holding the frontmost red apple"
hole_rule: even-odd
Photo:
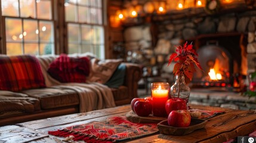
[[[207,120],[192,118],[190,125],[186,128],[168,126],[167,120],[158,123],[159,132],[165,135],[186,135],[194,130],[205,128]]]

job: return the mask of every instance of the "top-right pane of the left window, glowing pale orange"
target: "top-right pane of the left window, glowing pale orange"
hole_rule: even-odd
[[[38,18],[51,20],[51,1],[39,1],[36,2],[38,8]]]

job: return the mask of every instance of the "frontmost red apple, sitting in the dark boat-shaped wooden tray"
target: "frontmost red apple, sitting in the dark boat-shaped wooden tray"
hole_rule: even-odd
[[[191,116],[187,110],[173,110],[167,118],[168,125],[174,127],[187,127],[190,125]]]

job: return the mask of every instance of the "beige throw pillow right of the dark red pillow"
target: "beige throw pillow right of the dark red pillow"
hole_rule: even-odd
[[[99,60],[98,58],[92,58],[90,76],[87,78],[88,82],[106,83],[121,62],[122,59]]]

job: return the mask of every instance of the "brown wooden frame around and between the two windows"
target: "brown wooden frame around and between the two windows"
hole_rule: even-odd
[[[0,26],[0,54],[7,54],[7,41],[6,41],[6,35],[5,35],[5,17],[10,18],[26,18],[31,20],[48,20],[48,19],[41,19],[41,18],[32,18],[32,17],[20,17],[20,13],[18,17],[12,17],[12,16],[4,16],[2,15],[2,7],[1,7],[1,1],[0,0],[0,23],[2,26]],[[35,0],[36,1],[36,0]],[[44,0],[41,0],[44,1]],[[88,25],[95,25],[95,26],[102,26],[103,32],[104,32],[104,43],[100,46],[103,46],[103,55],[104,58],[107,56],[107,1],[100,0],[101,1],[101,18],[102,18],[102,24],[92,24],[92,23],[81,23],[81,24],[88,24]],[[19,1],[18,1],[19,2]],[[65,7],[64,7],[65,0],[51,0],[51,20],[53,21],[53,37],[54,37],[54,54],[61,54],[66,53],[68,54],[68,33],[67,33],[67,24],[70,22],[67,22],[65,13]],[[19,8],[20,11],[20,8]],[[24,44],[24,42],[23,42]],[[91,44],[92,45],[92,44]]]

